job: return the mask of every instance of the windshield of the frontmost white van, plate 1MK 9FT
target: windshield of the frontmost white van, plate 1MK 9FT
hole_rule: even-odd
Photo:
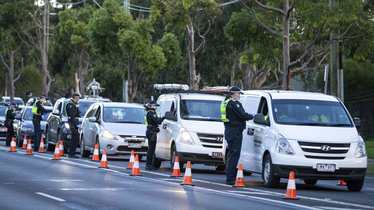
[[[274,99],[273,115],[276,123],[283,125],[353,126],[343,106],[333,101]]]

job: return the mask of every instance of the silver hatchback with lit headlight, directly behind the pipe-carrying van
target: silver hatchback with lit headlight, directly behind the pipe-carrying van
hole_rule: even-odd
[[[89,157],[96,143],[99,155],[106,149],[107,155],[130,155],[131,150],[147,155],[148,140],[145,137],[144,107],[135,104],[97,102],[86,113],[80,135],[80,154]]]

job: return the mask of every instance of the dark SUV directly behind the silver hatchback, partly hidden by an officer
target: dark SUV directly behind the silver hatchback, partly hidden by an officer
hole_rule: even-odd
[[[61,140],[64,141],[65,152],[67,152],[69,148],[71,132],[67,123],[68,118],[66,117],[65,111],[65,104],[68,101],[70,101],[70,99],[58,99],[53,106],[53,112],[48,117],[45,139],[47,151],[53,151],[55,149],[56,142],[60,143]],[[79,110],[81,111],[79,117],[80,125],[82,125],[83,116],[86,114],[88,108],[95,102],[96,101],[80,99],[78,103]]]

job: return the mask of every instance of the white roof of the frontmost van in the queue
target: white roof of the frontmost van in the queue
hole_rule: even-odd
[[[317,100],[317,101],[335,101],[339,100],[330,95],[325,95],[322,93],[311,93],[311,92],[301,92],[301,91],[286,91],[286,90],[244,90],[242,91],[245,95],[259,95],[268,94],[272,99],[302,99],[302,100]]]

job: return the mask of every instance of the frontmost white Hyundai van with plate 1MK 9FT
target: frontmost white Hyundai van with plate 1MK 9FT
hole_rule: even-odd
[[[266,187],[280,178],[295,177],[306,184],[344,180],[350,191],[360,191],[367,169],[361,121],[351,118],[335,96],[294,91],[243,91],[248,113],[239,163],[243,170],[262,173]],[[227,154],[224,141],[223,158]],[[226,161],[226,160],[225,160]]]

